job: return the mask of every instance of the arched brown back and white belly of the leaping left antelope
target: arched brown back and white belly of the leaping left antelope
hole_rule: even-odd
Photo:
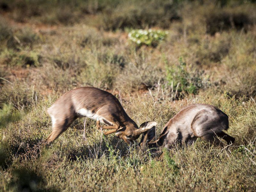
[[[65,93],[48,109],[48,113],[54,118],[87,116],[94,120],[112,120],[109,116],[115,116],[116,122],[128,119],[114,95],[94,87],[81,87]]]

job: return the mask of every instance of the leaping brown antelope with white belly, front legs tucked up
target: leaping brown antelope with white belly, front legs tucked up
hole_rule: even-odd
[[[52,118],[52,132],[47,138],[48,143],[67,130],[78,117],[97,120],[98,129],[113,129],[105,132],[105,135],[116,132],[115,136],[127,143],[133,143],[142,132],[156,125],[156,122],[148,122],[139,129],[114,95],[95,87],[81,87],[66,92],[47,112]],[[100,122],[108,126],[100,126]]]

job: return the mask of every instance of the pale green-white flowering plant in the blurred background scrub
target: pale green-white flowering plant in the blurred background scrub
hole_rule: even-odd
[[[148,45],[156,46],[160,41],[164,40],[167,35],[167,31],[162,30],[132,30],[128,37],[132,42],[135,42],[137,45]]]

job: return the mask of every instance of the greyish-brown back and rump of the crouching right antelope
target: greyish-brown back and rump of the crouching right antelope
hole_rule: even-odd
[[[227,130],[228,116],[212,105],[192,104],[181,109],[165,127],[169,132],[180,132],[180,137],[202,137],[207,133]]]

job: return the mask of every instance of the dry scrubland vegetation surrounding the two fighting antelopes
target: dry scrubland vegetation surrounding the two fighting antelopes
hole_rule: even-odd
[[[1,0],[0,191],[255,191],[255,10],[252,0]],[[137,43],[138,29],[164,35]],[[212,104],[236,142],[154,156],[84,118],[44,147],[46,109],[81,86],[113,93],[138,125],[157,121],[156,135],[183,106]]]

